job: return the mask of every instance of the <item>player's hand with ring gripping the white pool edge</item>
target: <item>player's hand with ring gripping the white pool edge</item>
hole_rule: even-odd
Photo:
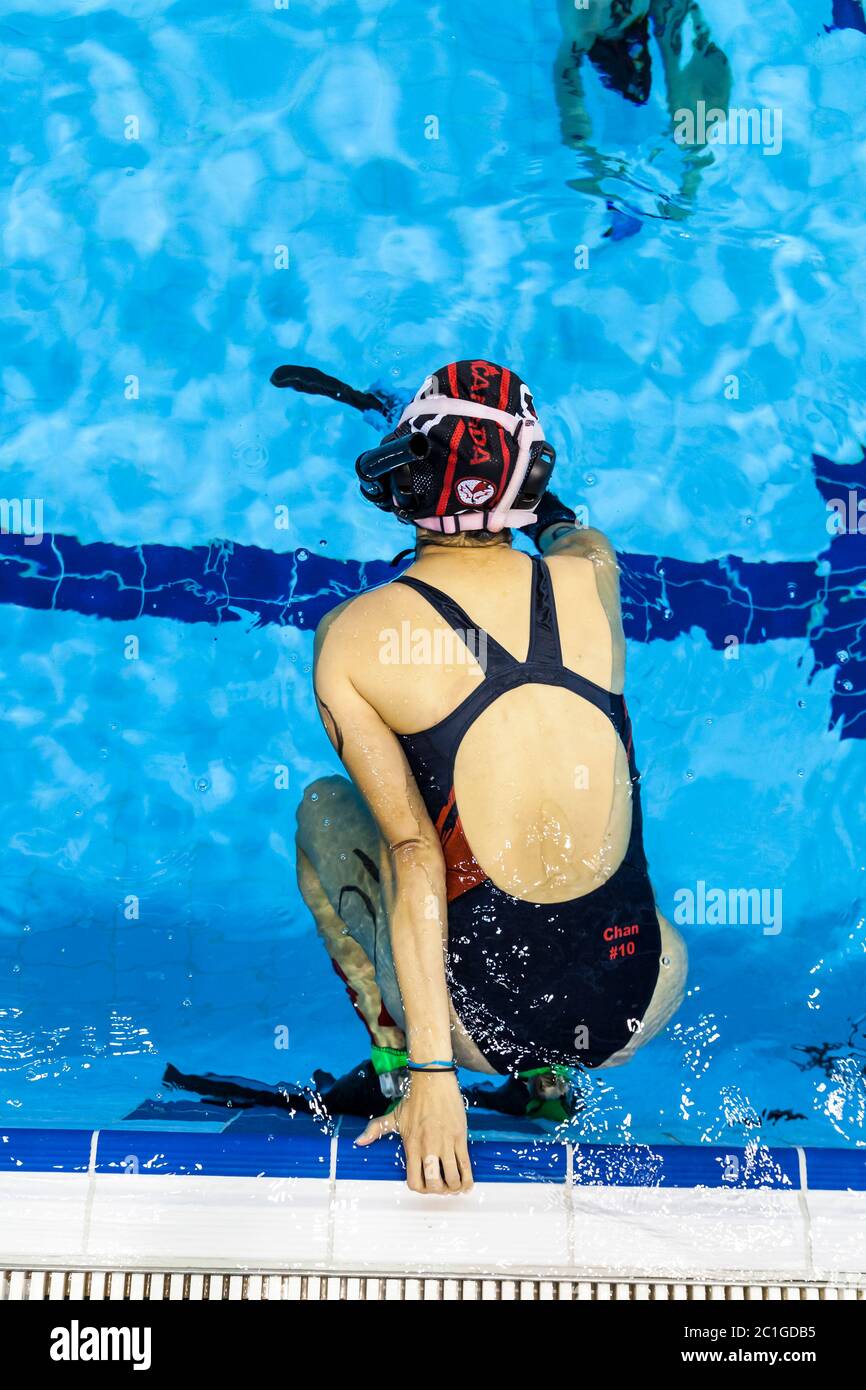
[[[453,1072],[413,1072],[409,1094],[391,1115],[370,1120],[357,1144],[398,1133],[413,1193],[467,1193],[473,1169],[466,1147],[466,1105]]]

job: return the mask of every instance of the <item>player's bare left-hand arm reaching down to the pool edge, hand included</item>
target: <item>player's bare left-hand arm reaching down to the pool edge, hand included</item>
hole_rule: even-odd
[[[345,612],[345,610],[343,610]],[[392,899],[391,944],[413,1062],[449,1059],[452,1031],[445,944],[445,862],[403,749],[356,689],[346,669],[339,619],[325,624],[316,653],[316,698],[334,748],[367,802],[385,844]],[[359,1143],[399,1130],[414,1191],[471,1186],[466,1108],[453,1073],[413,1073],[409,1095],[373,1120]]]

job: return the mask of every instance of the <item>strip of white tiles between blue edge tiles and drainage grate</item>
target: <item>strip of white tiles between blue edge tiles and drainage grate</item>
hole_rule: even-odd
[[[8,1173],[7,1268],[834,1280],[866,1273],[866,1193]],[[812,1251],[812,1254],[810,1254]]]

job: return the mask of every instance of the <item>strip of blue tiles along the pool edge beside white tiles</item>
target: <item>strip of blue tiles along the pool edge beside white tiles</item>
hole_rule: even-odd
[[[285,1116],[284,1116],[285,1119]],[[518,1123],[516,1123],[518,1127]],[[336,1148],[336,1177],[402,1182],[405,1169],[396,1138],[357,1148],[361,1120],[343,1119]],[[10,1129],[0,1131],[0,1173],[82,1173],[88,1170],[90,1130]],[[470,1140],[480,1183],[564,1183],[567,1145],[562,1140]],[[866,1191],[866,1151],[806,1148],[806,1184],[812,1191]],[[100,1130],[95,1170],[104,1175],[320,1177],[331,1173],[331,1138],[309,1116],[291,1129],[224,1131],[114,1129]],[[673,1144],[574,1144],[573,1180],[591,1187],[801,1187],[795,1148],[734,1148]]]

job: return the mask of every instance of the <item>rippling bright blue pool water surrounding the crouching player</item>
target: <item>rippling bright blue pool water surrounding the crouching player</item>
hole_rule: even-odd
[[[866,1143],[862,19],[705,0],[681,63],[706,25],[781,145],[698,168],[657,35],[644,103],[582,63],[563,138],[553,0],[3,7],[3,492],[44,530],[0,535],[8,1125],[364,1055],[293,816],[336,767],[313,627],[409,537],[353,485],[382,421],[268,378],[485,356],[623,555],[651,870],[696,919],[571,1131]]]

